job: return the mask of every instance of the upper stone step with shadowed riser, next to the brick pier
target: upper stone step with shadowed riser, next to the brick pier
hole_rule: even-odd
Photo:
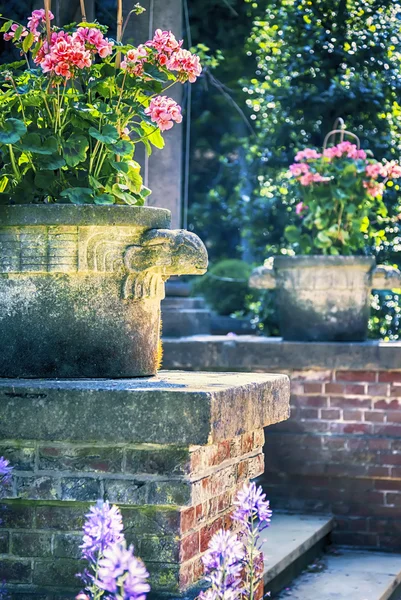
[[[284,589],[320,556],[333,525],[331,516],[273,513],[262,534],[265,591],[275,594]]]

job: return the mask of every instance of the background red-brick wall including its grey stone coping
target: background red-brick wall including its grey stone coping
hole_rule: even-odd
[[[333,513],[334,541],[401,549],[401,343],[165,340],[166,368],[288,373],[291,418],[266,431],[279,510]]]

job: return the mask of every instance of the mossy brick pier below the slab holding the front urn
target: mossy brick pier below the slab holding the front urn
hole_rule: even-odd
[[[73,597],[84,515],[104,497],[122,507],[152,588],[190,587],[211,536],[231,525],[237,490],[263,472],[263,444],[263,429],[189,447],[2,440],[15,470],[0,501],[0,581],[19,600]]]

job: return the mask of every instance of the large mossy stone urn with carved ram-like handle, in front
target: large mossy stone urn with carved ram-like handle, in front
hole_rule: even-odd
[[[164,283],[207,268],[169,227],[151,207],[0,207],[0,377],[154,375]]]

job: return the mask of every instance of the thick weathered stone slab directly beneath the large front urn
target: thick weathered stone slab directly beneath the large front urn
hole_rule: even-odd
[[[0,380],[0,439],[214,444],[289,417],[286,375]]]

